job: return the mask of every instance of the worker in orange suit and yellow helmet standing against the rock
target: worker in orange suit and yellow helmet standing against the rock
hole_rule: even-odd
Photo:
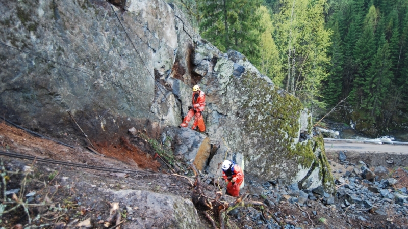
[[[193,98],[192,98],[193,106],[189,106],[189,111],[187,116],[184,117],[183,123],[180,124],[181,127],[188,127],[188,123],[190,122],[191,118],[195,115],[193,126],[191,127],[192,130],[198,130],[201,132],[206,131],[206,126],[204,125],[204,119],[202,118],[202,111],[206,106],[206,95],[203,91],[200,90],[199,85],[195,85],[193,87]]]

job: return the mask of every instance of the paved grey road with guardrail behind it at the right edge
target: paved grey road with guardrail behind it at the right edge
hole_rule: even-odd
[[[408,145],[324,141],[324,149],[408,154]]]

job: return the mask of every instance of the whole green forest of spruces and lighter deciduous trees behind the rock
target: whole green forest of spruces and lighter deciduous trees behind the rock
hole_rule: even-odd
[[[174,0],[218,49],[371,136],[408,126],[408,1]]]

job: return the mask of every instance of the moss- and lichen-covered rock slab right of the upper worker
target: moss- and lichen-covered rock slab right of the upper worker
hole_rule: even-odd
[[[205,48],[199,50],[205,56]],[[202,86],[208,96],[206,123],[212,143],[224,139],[233,152],[244,155],[246,173],[284,185],[301,185],[318,168],[313,178],[318,181],[308,188],[323,185],[333,192],[324,145],[314,138],[299,141],[300,132],[312,135],[312,117],[300,101],[260,75],[240,53],[207,58],[217,58],[214,71],[207,73],[209,81],[218,82],[216,87]],[[244,71],[240,74],[238,69]]]

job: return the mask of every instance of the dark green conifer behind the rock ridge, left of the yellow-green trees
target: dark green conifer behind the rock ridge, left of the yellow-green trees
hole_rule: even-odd
[[[223,52],[234,49],[255,62],[262,28],[260,0],[198,0],[201,36]]]

